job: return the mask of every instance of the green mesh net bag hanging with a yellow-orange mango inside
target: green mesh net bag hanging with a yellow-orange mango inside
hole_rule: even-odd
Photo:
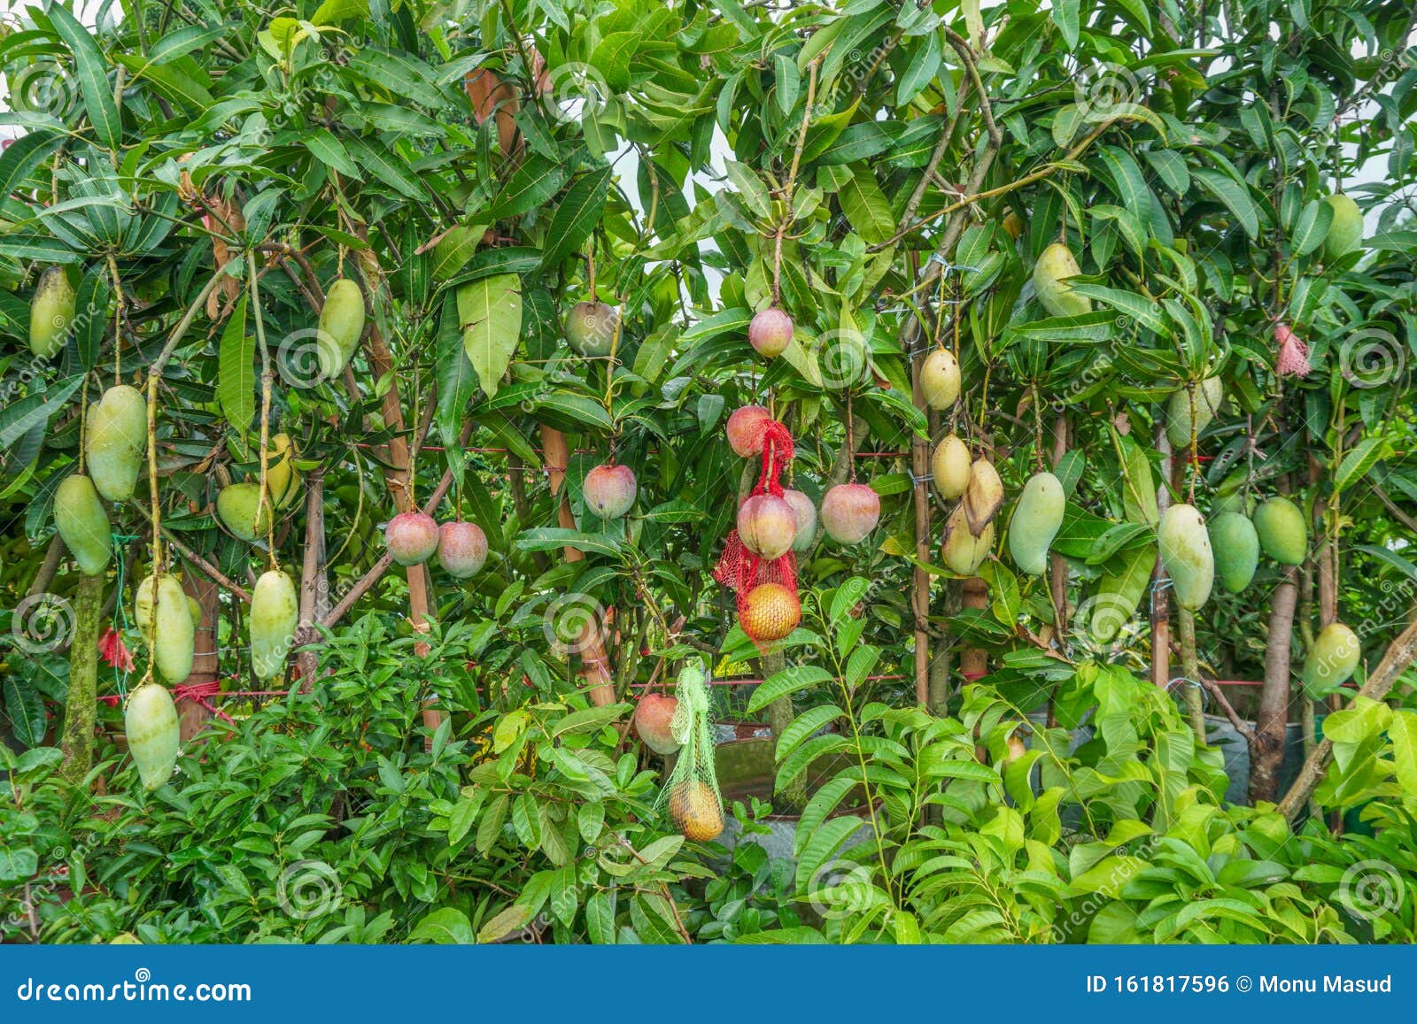
[[[713,718],[708,702],[708,676],[703,666],[690,663],[679,673],[674,687],[679,707],[669,731],[679,741],[679,761],[659,795],[660,809],[667,807],[674,827],[684,838],[703,843],[723,831],[723,796],[714,769]]]

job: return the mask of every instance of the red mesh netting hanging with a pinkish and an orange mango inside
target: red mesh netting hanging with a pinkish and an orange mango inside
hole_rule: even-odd
[[[775,419],[762,426],[762,470],[738,508],[714,579],[738,599],[738,625],[760,652],[796,629],[796,516],[782,499],[782,470],[792,462],[792,435]],[[785,511],[784,511],[785,510]],[[744,537],[747,534],[747,537]]]

